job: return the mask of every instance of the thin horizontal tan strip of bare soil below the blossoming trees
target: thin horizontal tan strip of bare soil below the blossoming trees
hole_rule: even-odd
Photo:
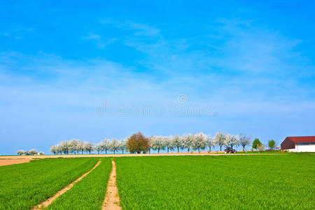
[[[95,154],[95,155],[25,155],[25,156],[0,156],[0,166],[3,165],[13,165],[13,164],[19,164],[23,162],[29,162],[34,159],[41,159],[41,158],[106,158],[106,157],[142,157],[142,156],[181,156],[181,155],[192,155],[192,156],[198,156],[198,155],[279,155],[279,153],[276,154],[270,154],[270,153],[237,153],[237,154],[225,154],[223,152],[202,152],[202,153],[160,153],[160,154]]]

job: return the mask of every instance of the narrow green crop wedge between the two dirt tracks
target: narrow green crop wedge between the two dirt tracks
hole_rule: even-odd
[[[111,159],[102,158],[98,167],[52,202],[48,209],[101,209],[110,173]]]

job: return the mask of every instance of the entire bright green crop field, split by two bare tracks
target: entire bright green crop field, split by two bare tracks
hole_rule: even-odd
[[[312,154],[56,158],[0,167],[0,209],[100,209],[116,162],[123,209],[315,209]]]

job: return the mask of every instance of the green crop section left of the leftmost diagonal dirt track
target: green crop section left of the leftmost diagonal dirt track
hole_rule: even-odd
[[[96,163],[97,158],[54,158],[0,167],[0,209],[30,209]]]

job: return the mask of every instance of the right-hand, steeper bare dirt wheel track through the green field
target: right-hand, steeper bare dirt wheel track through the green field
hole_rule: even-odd
[[[109,176],[109,183],[107,184],[107,190],[104,202],[102,204],[102,209],[105,210],[116,210],[121,209],[119,206],[119,195],[116,186],[116,165],[112,160],[111,164],[113,168],[111,169],[111,175]]]

